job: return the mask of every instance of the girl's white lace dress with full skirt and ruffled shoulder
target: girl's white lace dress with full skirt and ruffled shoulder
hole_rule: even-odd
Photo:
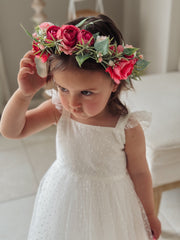
[[[41,180],[28,240],[149,240],[151,230],[126,170],[126,126],[76,122],[63,110],[57,159]]]

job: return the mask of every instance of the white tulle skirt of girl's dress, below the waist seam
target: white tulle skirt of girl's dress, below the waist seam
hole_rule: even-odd
[[[79,176],[56,160],[41,180],[28,240],[120,239],[152,239],[129,175]]]

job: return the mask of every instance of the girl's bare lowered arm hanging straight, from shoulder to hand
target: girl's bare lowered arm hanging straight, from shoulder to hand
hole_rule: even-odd
[[[127,169],[134,183],[135,191],[146,211],[154,237],[158,239],[161,233],[161,224],[154,211],[152,180],[146,161],[144,133],[140,125],[129,128],[125,132]]]

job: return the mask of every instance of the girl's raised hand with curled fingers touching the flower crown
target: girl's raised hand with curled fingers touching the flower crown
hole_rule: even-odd
[[[20,61],[18,73],[19,89],[25,97],[33,96],[46,83],[46,77],[40,77],[37,73],[35,56],[28,51]]]

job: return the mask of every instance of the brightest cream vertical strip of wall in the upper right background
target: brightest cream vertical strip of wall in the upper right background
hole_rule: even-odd
[[[164,73],[167,70],[171,8],[170,0],[141,0],[140,45],[150,58],[151,72]]]

